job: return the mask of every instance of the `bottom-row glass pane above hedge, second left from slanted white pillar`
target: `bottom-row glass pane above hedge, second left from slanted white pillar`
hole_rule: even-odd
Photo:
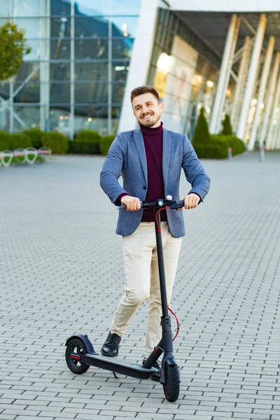
[[[108,133],[108,109],[106,106],[75,106],[74,132],[96,130],[102,136]]]

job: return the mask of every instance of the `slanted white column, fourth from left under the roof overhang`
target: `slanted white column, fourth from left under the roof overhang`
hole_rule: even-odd
[[[255,146],[255,137],[256,137],[256,134],[257,134],[257,130],[258,130],[258,120],[259,120],[259,117],[260,117],[260,109],[261,109],[260,107],[261,107],[263,99],[265,97],[265,88],[267,87],[267,79],[268,79],[270,65],[271,65],[271,62],[272,62],[274,45],[275,45],[275,38],[274,38],[274,36],[270,36],[268,47],[267,47],[267,53],[265,55],[265,63],[264,63],[263,69],[262,69],[262,77],[260,79],[260,88],[259,88],[259,92],[258,92],[258,102],[257,102],[257,105],[255,107],[255,115],[254,115],[254,118],[253,118],[251,135],[250,135],[250,140],[248,142],[248,150],[249,151],[253,151],[253,148]]]

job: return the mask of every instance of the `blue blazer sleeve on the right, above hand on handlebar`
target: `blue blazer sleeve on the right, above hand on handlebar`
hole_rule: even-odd
[[[210,188],[209,176],[204,171],[200,160],[197,158],[195,149],[190,144],[187,136],[183,139],[183,170],[187,181],[192,186],[188,194],[196,193],[203,201]]]

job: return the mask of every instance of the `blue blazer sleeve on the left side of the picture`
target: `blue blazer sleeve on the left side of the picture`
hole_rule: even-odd
[[[124,164],[124,143],[120,134],[111,144],[106,155],[102,172],[100,174],[100,186],[104,193],[108,195],[113,204],[116,204],[118,197],[127,194],[127,191],[120,186],[118,179],[122,174]]]

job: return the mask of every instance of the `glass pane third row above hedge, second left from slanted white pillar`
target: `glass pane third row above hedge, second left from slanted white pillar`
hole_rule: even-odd
[[[75,80],[108,80],[108,62],[75,64]]]

